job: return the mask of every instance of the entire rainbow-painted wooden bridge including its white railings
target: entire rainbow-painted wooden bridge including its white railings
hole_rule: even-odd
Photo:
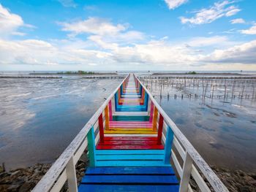
[[[77,185],[75,164],[87,150],[89,167]],[[193,191],[191,177],[201,191],[227,191],[138,77],[129,74],[33,191],[60,191],[65,182],[69,191]]]

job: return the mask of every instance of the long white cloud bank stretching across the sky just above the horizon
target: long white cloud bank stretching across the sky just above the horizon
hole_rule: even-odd
[[[93,37],[95,39],[93,39]],[[226,64],[256,64],[256,41],[241,45],[231,45],[224,49],[200,52],[200,47],[219,45],[227,47],[227,37],[195,37],[184,42],[170,43],[168,39],[151,40],[145,43],[121,46],[115,42],[105,42],[102,37],[94,35],[86,42],[54,40],[45,42],[36,39],[22,41],[0,40],[0,65],[18,64],[20,66],[86,66],[90,69],[138,69],[135,66],[163,69],[188,69],[192,66]],[[99,38],[99,39],[97,39]],[[215,40],[214,40],[215,39]],[[192,46],[185,45],[189,42]],[[100,51],[89,45],[96,43],[105,49]],[[78,45],[78,46],[77,46]],[[233,65],[232,65],[233,66]],[[216,67],[216,66],[215,66]],[[34,68],[32,68],[34,69]],[[46,68],[50,69],[50,68]],[[53,68],[51,68],[53,69]],[[231,68],[230,68],[231,69]]]

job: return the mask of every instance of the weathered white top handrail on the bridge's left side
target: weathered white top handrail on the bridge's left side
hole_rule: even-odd
[[[127,75],[129,77],[129,74]],[[127,77],[124,78],[124,80],[127,79]],[[91,119],[86,123],[85,126],[81,129],[81,131],[78,133],[78,135],[75,137],[75,139],[72,140],[72,142],[69,144],[69,146],[64,150],[63,153],[59,156],[59,158],[55,161],[55,163],[50,167],[48,172],[42,177],[41,180],[39,180],[39,183],[35,186],[35,188],[32,190],[34,192],[37,191],[50,191],[50,188],[53,187],[53,184],[56,182],[58,177],[61,175],[64,169],[66,169],[67,164],[69,161],[73,158],[73,155],[78,150],[78,147],[82,144],[82,142],[86,139],[87,134],[89,133],[91,127],[94,126],[94,123],[98,120],[99,115],[102,114],[102,112],[105,110],[105,107],[108,105],[108,102],[113,98],[116,91],[118,91],[118,88],[121,87],[124,80],[118,85],[115,91],[108,96],[108,99],[102,104],[101,107],[97,110],[97,112],[94,113],[94,115],[91,117]]]

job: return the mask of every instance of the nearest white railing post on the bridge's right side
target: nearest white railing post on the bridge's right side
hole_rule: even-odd
[[[187,192],[189,188],[189,180],[190,180],[192,164],[193,164],[192,158],[190,157],[189,153],[186,153],[186,157],[184,159],[184,164],[182,169],[179,192]]]

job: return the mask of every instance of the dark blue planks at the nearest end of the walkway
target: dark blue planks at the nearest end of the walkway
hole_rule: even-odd
[[[89,167],[78,191],[178,191],[171,166]]]

